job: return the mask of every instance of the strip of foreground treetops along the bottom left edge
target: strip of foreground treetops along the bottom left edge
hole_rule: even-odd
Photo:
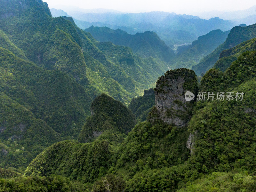
[[[2,168],[0,168],[0,175],[1,192],[122,192],[126,186],[121,177],[113,174],[101,177],[93,185],[85,184],[79,180],[70,180],[60,175],[24,177],[17,172]]]

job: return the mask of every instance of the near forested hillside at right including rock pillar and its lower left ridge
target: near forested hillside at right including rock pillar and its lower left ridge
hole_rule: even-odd
[[[150,121],[137,124],[121,145],[108,151],[108,143],[100,138],[86,144],[60,142],[38,155],[25,174],[55,173],[106,188],[106,177],[99,177],[108,172],[126,181],[125,191],[190,191],[195,186],[207,191],[221,178],[216,189],[233,190],[230,185],[234,184],[233,191],[249,192],[255,186],[255,54],[244,52],[219,75],[211,69],[199,87],[201,92],[214,86],[223,92],[244,92],[243,99],[236,100],[234,95],[233,100],[185,101],[187,90],[197,92],[195,73],[167,71],[156,84]],[[216,82],[210,84],[213,76]],[[185,122],[185,114],[179,113],[188,108],[191,120]],[[87,161],[91,154],[93,165]],[[89,175],[90,166],[95,174]]]

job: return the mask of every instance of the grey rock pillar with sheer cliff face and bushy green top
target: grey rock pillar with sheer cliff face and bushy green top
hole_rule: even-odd
[[[194,100],[185,100],[187,91],[195,94]],[[196,93],[197,78],[194,71],[185,68],[167,71],[156,83],[155,108],[150,114],[150,122],[162,120],[178,127],[186,126]]]

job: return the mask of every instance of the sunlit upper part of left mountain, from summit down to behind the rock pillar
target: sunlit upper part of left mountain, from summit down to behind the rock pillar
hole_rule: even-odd
[[[118,53],[115,49],[108,50],[112,58],[113,55],[114,58],[123,55],[119,63],[113,62],[99,50],[91,34],[77,28],[72,18],[52,18],[47,5],[41,1],[29,0],[20,5],[12,0],[9,4],[15,14],[3,17],[0,28],[10,41],[38,66],[58,69],[73,77],[91,98],[105,92],[128,105],[133,97],[141,95],[143,89],[152,87],[167,68],[164,62],[152,58],[140,59],[123,48],[119,48]],[[23,5],[26,5],[26,9],[21,7]],[[6,11],[9,6],[3,4],[4,14],[9,14]],[[23,30],[26,23],[31,27]],[[108,47],[108,44],[105,46]],[[101,48],[106,50],[103,46]],[[124,66],[126,62],[129,63],[131,56],[135,58],[133,62],[136,65],[128,70]],[[137,80],[139,76],[133,76],[136,73],[142,79]]]

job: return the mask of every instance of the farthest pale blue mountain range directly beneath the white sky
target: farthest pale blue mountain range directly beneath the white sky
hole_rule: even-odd
[[[72,12],[72,14],[68,12],[68,14],[74,18],[76,24],[82,29],[93,25],[95,27],[106,26],[111,29],[120,28],[130,34],[154,31],[171,48],[174,44],[192,43],[198,36],[205,35],[212,30],[227,31],[238,24],[217,17],[203,20],[197,16],[178,15],[169,12]]]

